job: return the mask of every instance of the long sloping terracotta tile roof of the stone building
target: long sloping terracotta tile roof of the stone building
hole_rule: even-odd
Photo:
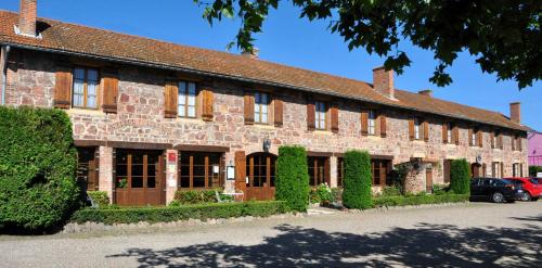
[[[196,72],[527,130],[500,113],[417,93],[396,90],[397,100],[390,100],[374,91],[372,85],[364,81],[53,20],[38,20],[41,38],[18,36],[14,31],[17,18],[17,13],[0,11],[0,43]]]

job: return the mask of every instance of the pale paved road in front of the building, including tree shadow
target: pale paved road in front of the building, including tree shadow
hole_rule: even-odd
[[[542,267],[542,202],[0,237],[2,267]]]

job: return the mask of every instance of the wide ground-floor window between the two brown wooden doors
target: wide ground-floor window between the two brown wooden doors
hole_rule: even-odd
[[[221,153],[180,152],[181,188],[220,187],[221,157]]]

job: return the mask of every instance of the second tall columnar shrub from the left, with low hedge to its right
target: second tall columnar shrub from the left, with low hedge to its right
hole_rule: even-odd
[[[347,208],[365,209],[372,207],[371,181],[371,156],[369,153],[347,151],[345,153],[343,204]]]

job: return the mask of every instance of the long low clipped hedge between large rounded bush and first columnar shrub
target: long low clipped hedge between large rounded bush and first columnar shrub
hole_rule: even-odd
[[[118,209],[85,208],[74,213],[72,222],[134,224],[168,222],[188,219],[231,218],[242,216],[267,217],[288,212],[286,202],[259,201],[186,205],[178,207],[130,207]]]

